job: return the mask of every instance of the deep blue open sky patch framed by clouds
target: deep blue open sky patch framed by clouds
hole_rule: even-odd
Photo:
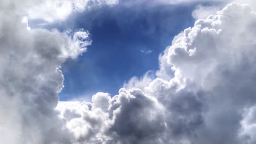
[[[44,28],[89,31],[92,45],[77,60],[62,65],[65,88],[61,100],[118,93],[132,76],[157,70],[158,57],[175,35],[194,25],[197,3],[183,5],[125,5],[95,7]],[[36,21],[32,27],[38,27]],[[39,21],[40,23],[40,21]]]

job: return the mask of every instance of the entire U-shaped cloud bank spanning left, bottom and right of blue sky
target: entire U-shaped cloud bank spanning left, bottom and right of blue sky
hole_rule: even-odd
[[[256,14],[247,5],[185,29],[160,56],[156,79],[58,103],[61,64],[86,50],[89,34],[28,30],[16,4],[0,2],[2,143],[256,142]]]

